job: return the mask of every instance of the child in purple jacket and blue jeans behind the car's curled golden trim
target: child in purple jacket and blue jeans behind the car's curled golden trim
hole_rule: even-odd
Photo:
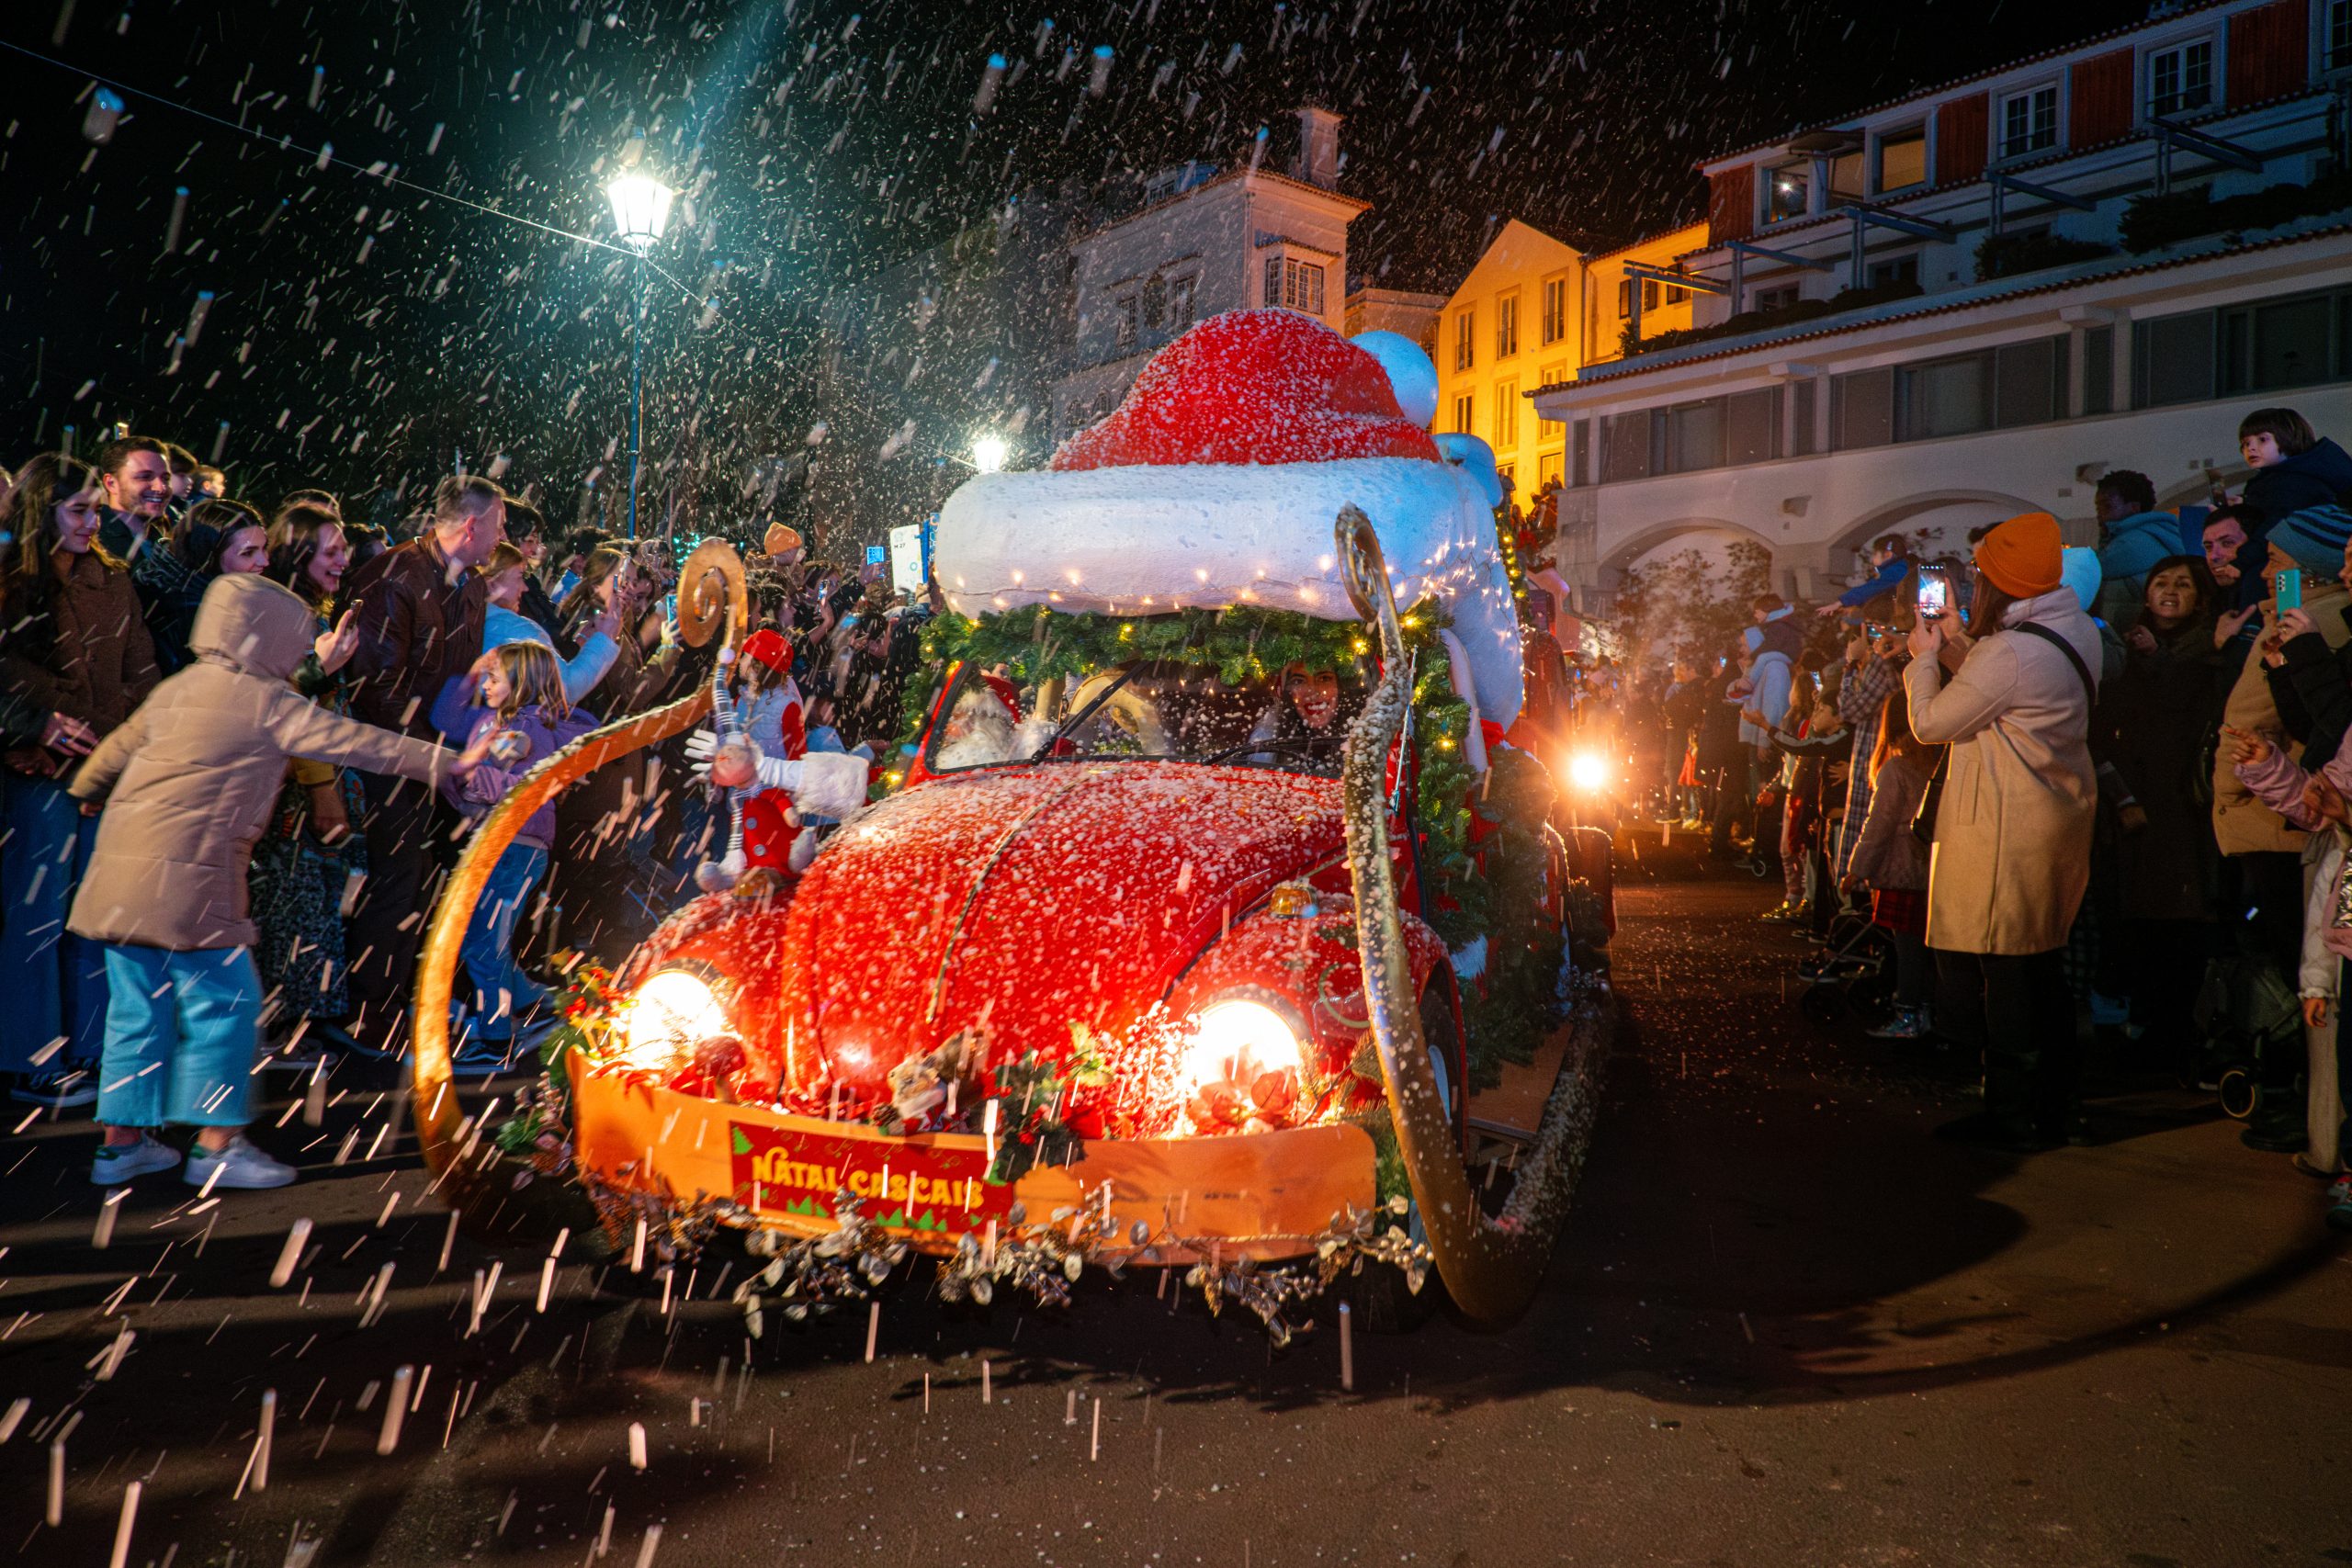
[[[480,820],[543,757],[595,729],[595,717],[574,712],[564,701],[562,665],[536,642],[508,642],[475,665],[480,682],[475,703],[466,708],[468,743],[489,736],[489,762],[463,783],[445,785],[449,802]],[[470,1009],[452,1018],[452,1032],[463,1041],[452,1060],[459,1074],[503,1072],[517,1044],[529,1046],[550,1020],[536,1018],[548,992],[515,964],[515,922],[532,889],[548,872],[555,846],[555,804],[548,802],[522,825],[515,842],[499,856],[459,961],[473,983]]]

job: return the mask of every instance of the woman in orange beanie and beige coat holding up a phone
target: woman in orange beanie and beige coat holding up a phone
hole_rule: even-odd
[[[1903,672],[1912,733],[1952,748],[1926,896],[1940,1018],[1985,1048],[1985,1110],[1938,1131],[2013,1152],[2067,1138],[2082,1079],[2060,957],[2091,879],[2100,649],[2063,543],[2049,512],[1985,534],[1969,630],[1919,616]]]

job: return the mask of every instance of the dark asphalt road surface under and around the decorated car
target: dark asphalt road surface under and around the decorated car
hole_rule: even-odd
[[[2096,1147],[1933,1143],[1966,1065],[1804,1023],[1771,893],[1679,849],[1628,867],[1625,1025],[1541,1298],[1503,1333],[1357,1333],[1352,1394],[1329,1324],[1277,1352],[1157,1272],[1065,1314],[898,1288],[873,1363],[863,1312],[746,1356],[713,1281],[666,1314],[583,1237],[539,1312],[543,1239],[440,1267],[365,1086],[263,1133],[310,1145],[301,1185],[195,1208],[148,1178],[96,1251],[92,1128],[35,1121],[0,1150],[0,1554],[108,1563],[139,1483],[132,1568],[600,1537],[623,1566],[2352,1561],[2352,1272],[2317,1182],[2129,1074]],[[273,1291],[296,1218],[308,1288]]]

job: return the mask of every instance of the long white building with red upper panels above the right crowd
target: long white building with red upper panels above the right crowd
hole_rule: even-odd
[[[1806,597],[1893,529],[2089,543],[2100,473],[2199,501],[2263,404],[2352,437],[2347,143],[2352,0],[2220,0],[1703,162],[1693,329],[1531,393],[1581,609],[1724,536]]]

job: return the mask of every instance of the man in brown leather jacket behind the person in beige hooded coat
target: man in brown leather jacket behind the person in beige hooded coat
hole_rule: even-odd
[[[506,527],[506,494],[480,475],[452,475],[433,491],[421,538],[376,555],[343,581],[358,611],[360,651],[348,665],[350,712],[381,729],[435,741],[433,698],[482,656],[487,585],[475,571]],[[393,776],[362,773],[367,882],[350,917],[353,1034],[397,1051],[397,1020],[433,865],[433,795]]]

